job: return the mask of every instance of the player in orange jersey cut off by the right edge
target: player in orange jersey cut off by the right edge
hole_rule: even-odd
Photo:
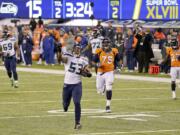
[[[178,41],[174,37],[171,40],[171,47],[167,49],[167,57],[171,59],[171,91],[172,91],[172,98],[176,99],[176,78],[180,75],[180,47],[178,46]],[[164,62],[165,62],[164,61]]]

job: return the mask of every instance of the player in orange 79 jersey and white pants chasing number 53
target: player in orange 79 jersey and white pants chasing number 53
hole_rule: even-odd
[[[110,39],[104,38],[102,48],[96,50],[94,64],[97,65],[96,88],[97,92],[106,92],[106,112],[111,112],[112,85],[114,82],[114,69],[121,65],[122,61],[118,50],[111,48]],[[117,64],[115,64],[117,63]]]

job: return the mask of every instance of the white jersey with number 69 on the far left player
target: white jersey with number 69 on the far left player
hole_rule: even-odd
[[[0,40],[0,47],[2,47],[2,52],[4,56],[13,56],[15,55],[14,45],[15,38],[9,38],[7,40]]]

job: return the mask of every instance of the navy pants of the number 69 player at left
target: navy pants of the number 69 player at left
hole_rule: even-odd
[[[5,68],[7,70],[7,74],[9,76],[9,78],[11,78],[13,75],[13,79],[15,81],[18,80],[18,75],[17,75],[17,71],[16,71],[16,58],[15,58],[15,56],[7,57],[7,58],[5,57],[4,65],[5,65]]]

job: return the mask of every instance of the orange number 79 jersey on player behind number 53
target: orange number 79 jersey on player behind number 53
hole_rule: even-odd
[[[112,48],[108,53],[103,51],[102,48],[98,48],[96,49],[96,54],[99,55],[101,65],[101,67],[98,68],[98,72],[109,72],[114,70],[115,56],[118,54],[116,48]]]

